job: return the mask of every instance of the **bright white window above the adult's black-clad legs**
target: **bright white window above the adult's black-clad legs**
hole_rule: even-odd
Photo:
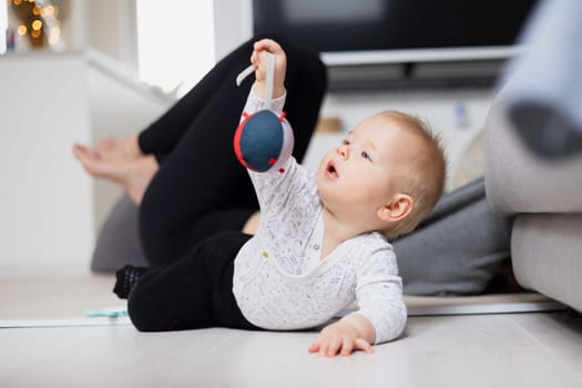
[[[185,94],[214,65],[212,0],[136,0],[137,68],[145,82]]]

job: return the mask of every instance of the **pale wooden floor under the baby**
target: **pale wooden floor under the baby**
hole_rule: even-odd
[[[2,274],[0,320],[120,304],[108,276],[47,284]],[[308,354],[315,336],[143,334],[123,319],[0,328],[0,387],[582,387],[582,318],[566,312],[412,316],[400,339],[348,358]]]

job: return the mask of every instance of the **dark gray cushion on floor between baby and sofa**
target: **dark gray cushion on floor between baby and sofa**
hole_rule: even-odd
[[[482,293],[510,257],[511,225],[487,205],[482,177],[447,193],[415,232],[394,242],[405,294]]]

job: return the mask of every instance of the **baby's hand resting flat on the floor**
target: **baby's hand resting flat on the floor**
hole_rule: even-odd
[[[371,345],[358,328],[345,318],[326,326],[309,347],[310,353],[319,351],[321,356],[327,357],[338,354],[349,356],[355,350],[371,353]]]

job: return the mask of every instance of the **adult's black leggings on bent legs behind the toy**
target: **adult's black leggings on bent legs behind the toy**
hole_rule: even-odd
[[[140,237],[151,265],[169,265],[216,233],[241,231],[258,210],[248,174],[233,151],[233,135],[254,80],[236,86],[249,65],[255,38],[233,51],[184,98],[140,134],[160,171],[140,206]],[[276,38],[287,54],[285,112],[302,161],[326,91],[316,53]]]

